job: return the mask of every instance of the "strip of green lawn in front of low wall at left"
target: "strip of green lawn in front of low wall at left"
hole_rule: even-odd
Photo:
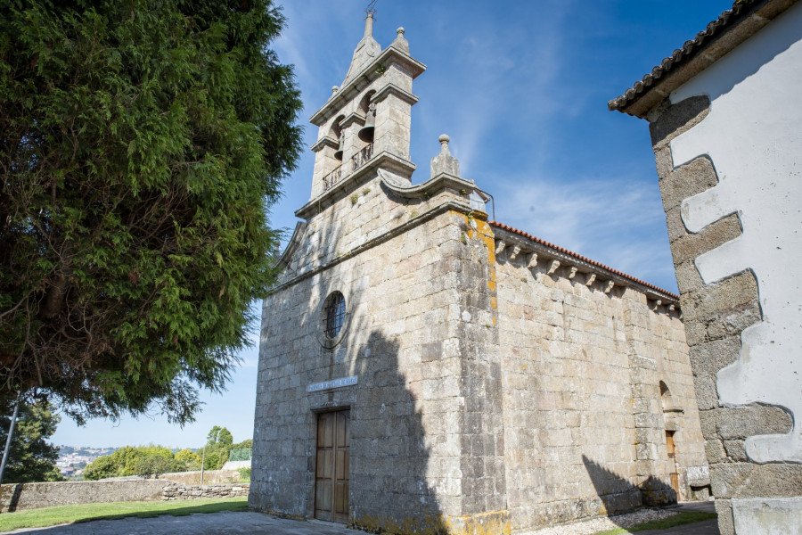
[[[44,507],[0,514],[0,531],[41,528],[61,523],[116,520],[127,516],[147,518],[160,514],[182,516],[220,511],[247,511],[248,498],[205,498],[152,502],[114,502],[78,506]]]

